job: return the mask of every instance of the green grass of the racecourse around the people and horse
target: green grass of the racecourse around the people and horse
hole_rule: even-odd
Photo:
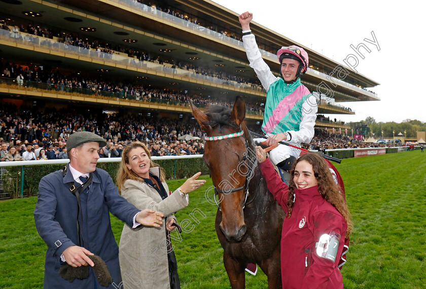
[[[345,182],[354,230],[345,288],[426,287],[426,154],[419,151],[345,159],[336,165]],[[208,179],[204,189],[211,186]],[[170,180],[170,190],[184,180]],[[35,230],[32,210],[37,198],[0,202],[0,288],[42,288],[46,245]],[[194,208],[196,224],[189,216]],[[174,241],[183,288],[228,288],[222,247],[215,232],[216,207],[204,190],[190,194],[189,206],[176,213],[192,221],[191,233]],[[117,241],[123,223],[112,217]],[[246,273],[247,288],[267,287],[266,276]]]

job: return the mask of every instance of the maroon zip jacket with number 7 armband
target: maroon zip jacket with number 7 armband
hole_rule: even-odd
[[[269,158],[260,164],[260,168],[269,191],[287,213],[288,186],[282,182]],[[317,189],[317,186],[296,189],[292,216],[282,224],[282,288],[343,288],[337,265],[342,255],[347,225],[343,216],[324,200]],[[334,262],[330,260],[333,254],[328,259],[319,257],[315,246],[322,235],[329,235],[332,231],[340,234]],[[337,240],[334,246],[337,246]]]

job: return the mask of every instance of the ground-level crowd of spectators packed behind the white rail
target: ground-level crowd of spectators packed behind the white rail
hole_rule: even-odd
[[[91,131],[107,139],[99,157],[121,157],[131,141],[143,141],[153,156],[179,156],[203,153],[205,133],[195,120],[160,117],[120,116],[70,110],[35,113],[29,107],[4,104],[0,111],[1,160],[65,159],[66,139],[76,131]],[[260,126],[249,126],[260,132]],[[198,140],[181,140],[189,134]],[[344,134],[315,129],[304,148],[325,152],[331,149],[394,147],[394,143],[365,143]]]

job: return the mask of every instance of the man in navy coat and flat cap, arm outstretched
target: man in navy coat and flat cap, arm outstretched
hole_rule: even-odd
[[[50,173],[40,181],[34,220],[48,247],[44,288],[101,288],[92,269],[88,278],[73,282],[58,274],[65,262],[73,267],[93,267],[87,255],[97,255],[105,261],[113,278],[109,288],[119,288],[118,246],[111,230],[110,212],[133,228],[159,227],[162,223],[161,212],[139,211],[119,195],[111,176],[96,168],[99,146],[106,144],[102,137],[91,132],[72,134],[66,144],[70,159],[66,169]],[[71,190],[84,188],[82,177],[88,177],[88,184],[90,179],[91,182],[79,195],[79,210],[77,197]]]

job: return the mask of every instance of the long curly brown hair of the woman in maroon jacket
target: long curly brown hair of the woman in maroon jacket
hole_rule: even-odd
[[[339,185],[335,183],[326,161],[323,157],[315,153],[304,154],[299,157],[292,166],[290,171],[291,178],[289,184],[289,198],[287,200],[288,213],[286,217],[290,218],[292,215],[294,206],[294,190],[296,189],[296,184],[293,180],[294,170],[297,163],[301,161],[307,161],[312,166],[313,174],[318,184],[318,193],[342,214],[347,224],[346,237],[349,237],[350,231],[352,230],[352,222],[350,220],[350,213],[347,208],[346,201],[340,193]]]

